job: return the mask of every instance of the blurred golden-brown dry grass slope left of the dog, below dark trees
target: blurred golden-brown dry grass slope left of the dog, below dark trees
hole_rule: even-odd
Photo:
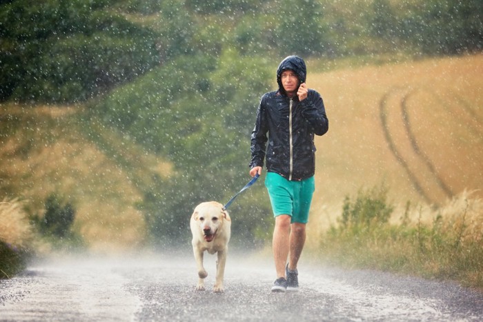
[[[30,214],[40,215],[48,195],[56,192],[75,206],[73,228],[91,250],[137,248],[146,235],[135,208],[142,198],[137,184],[148,183],[153,172],[168,174],[170,165],[108,129],[85,128],[76,113],[72,108],[2,106],[0,126],[9,120],[22,126],[0,137],[0,192],[20,196]],[[89,136],[94,132],[113,148],[106,151],[93,143]]]

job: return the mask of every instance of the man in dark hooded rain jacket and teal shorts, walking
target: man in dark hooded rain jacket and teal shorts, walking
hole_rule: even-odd
[[[262,174],[266,159],[265,185],[275,217],[273,292],[298,290],[297,263],[315,190],[314,134],[328,130],[322,97],[305,81],[304,60],[286,57],[277,68],[278,90],[260,100],[251,136],[250,175]]]

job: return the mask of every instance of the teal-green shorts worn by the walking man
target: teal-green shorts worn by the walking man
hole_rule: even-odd
[[[267,172],[265,186],[272,203],[273,217],[288,214],[291,223],[307,223],[315,190],[315,179],[288,181],[280,174]]]

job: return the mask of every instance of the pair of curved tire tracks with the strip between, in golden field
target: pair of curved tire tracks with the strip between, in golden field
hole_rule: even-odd
[[[453,191],[442,180],[440,174],[438,174],[435,165],[428,157],[428,155],[417,144],[417,140],[413,129],[411,127],[411,121],[408,112],[408,99],[415,94],[415,90],[407,90],[405,88],[393,88],[388,90],[382,99],[380,100],[380,119],[382,123],[382,130],[384,132],[384,138],[388,143],[389,150],[400,163],[402,168],[408,174],[411,183],[415,190],[426,200],[428,203],[438,205],[440,203],[437,195],[444,195],[444,197],[453,197]],[[395,137],[394,133],[391,133],[390,115],[388,112],[388,101],[390,99],[396,99],[395,109],[400,110],[399,117],[393,116],[395,125],[402,125],[402,131],[404,135]],[[393,130],[394,131],[394,130]],[[404,142],[406,140],[406,142]],[[411,150],[409,154],[413,157],[413,161],[409,161],[408,157],[402,152],[402,146],[406,144],[407,148]],[[408,152],[406,152],[407,154]],[[411,157],[410,156],[410,157]],[[418,166],[419,163],[419,166]],[[425,179],[425,181],[422,181]],[[426,189],[424,188],[426,186]]]

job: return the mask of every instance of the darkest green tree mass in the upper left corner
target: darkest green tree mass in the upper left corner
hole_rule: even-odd
[[[159,63],[155,34],[106,10],[109,1],[13,1],[1,6],[7,76],[0,99],[81,101]]]

